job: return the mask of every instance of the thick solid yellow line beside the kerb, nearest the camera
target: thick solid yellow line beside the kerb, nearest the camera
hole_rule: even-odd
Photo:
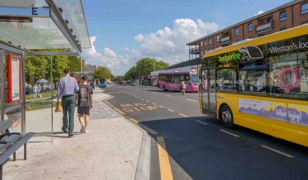
[[[161,172],[162,180],[171,180],[173,179],[171,166],[169,162],[169,155],[166,150],[166,145],[164,137],[157,137],[157,147],[158,147],[158,156],[159,156],[159,167]]]

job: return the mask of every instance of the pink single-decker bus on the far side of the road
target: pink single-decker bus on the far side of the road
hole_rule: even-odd
[[[187,92],[198,92],[197,71],[163,72],[158,74],[158,88],[163,90],[181,91],[181,83],[184,81]]]

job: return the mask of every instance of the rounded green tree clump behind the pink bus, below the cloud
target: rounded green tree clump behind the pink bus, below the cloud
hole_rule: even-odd
[[[149,57],[140,59],[136,66],[131,67],[125,73],[125,79],[139,79],[143,75],[149,75],[151,71],[168,67],[169,64],[163,61],[157,61]]]

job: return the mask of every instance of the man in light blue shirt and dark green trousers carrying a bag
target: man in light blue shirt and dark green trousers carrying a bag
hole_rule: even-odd
[[[56,105],[62,96],[63,109],[63,126],[62,131],[67,133],[68,137],[72,137],[74,130],[74,111],[75,111],[75,93],[79,91],[79,87],[75,78],[70,77],[70,69],[64,69],[64,77],[59,79],[56,92]],[[68,114],[67,114],[68,113]]]

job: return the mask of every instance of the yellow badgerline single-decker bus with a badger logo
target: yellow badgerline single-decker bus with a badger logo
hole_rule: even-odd
[[[209,51],[201,112],[308,147],[308,25]]]

